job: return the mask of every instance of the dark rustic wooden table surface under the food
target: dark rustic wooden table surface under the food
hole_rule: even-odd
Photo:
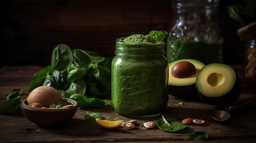
[[[233,65],[243,82],[243,66]],[[15,89],[23,89],[23,93],[29,94],[28,88],[33,75],[44,67],[40,66],[4,66],[0,69],[0,103],[6,100],[6,95]],[[256,95],[256,86],[243,84],[242,93],[238,99],[243,101]],[[176,107],[175,104],[183,102],[184,106]],[[169,95],[169,102],[164,117],[175,117],[178,121],[191,117],[202,119],[204,125],[191,124],[185,130],[177,132],[165,132],[159,128],[132,129],[117,128],[108,130],[98,124],[88,123],[84,115],[89,112],[98,112],[103,117],[111,119],[129,118],[118,115],[112,106],[100,108],[78,109],[70,121],[59,126],[41,127],[29,121],[22,112],[0,114],[0,142],[56,142],[56,143],[84,143],[84,142],[175,142],[175,143],[201,143],[191,141],[188,133],[191,131],[204,131],[209,133],[209,143],[253,143],[256,141],[256,101],[233,110],[231,118],[225,122],[218,122],[210,117],[210,112],[216,110],[216,106],[204,103],[200,97],[193,100],[180,100]],[[155,121],[161,116],[137,119],[140,125],[146,121]]]

